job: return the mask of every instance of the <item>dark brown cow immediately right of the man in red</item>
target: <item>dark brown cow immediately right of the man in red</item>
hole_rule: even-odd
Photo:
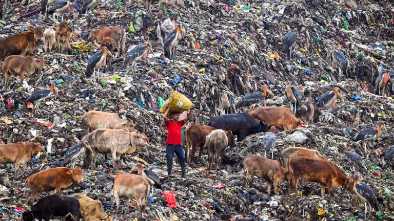
[[[200,147],[199,156],[194,161],[194,164],[197,164],[197,162],[199,162],[203,154],[205,138],[214,129],[215,128],[207,125],[191,125],[185,130],[187,163],[192,163],[191,161],[194,158],[195,150]],[[232,136],[232,133],[228,133],[227,135],[228,145],[230,147],[235,147],[234,136]]]

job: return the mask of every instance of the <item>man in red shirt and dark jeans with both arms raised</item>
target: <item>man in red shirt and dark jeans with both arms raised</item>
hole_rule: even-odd
[[[181,131],[182,131],[182,126],[188,120],[191,120],[193,118],[193,114],[192,114],[193,107],[190,109],[187,118],[185,118],[182,121],[178,121],[181,115],[181,113],[179,112],[171,112],[171,119],[167,118],[170,112],[170,107],[167,104],[167,111],[166,113],[164,113],[164,123],[167,126],[166,158],[167,158],[167,173],[169,176],[171,176],[172,158],[175,152],[176,158],[178,158],[178,161],[181,164],[182,177],[186,178],[185,150],[183,149]]]

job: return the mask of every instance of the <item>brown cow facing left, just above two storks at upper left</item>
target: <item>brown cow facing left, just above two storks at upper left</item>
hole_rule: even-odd
[[[96,39],[101,42],[104,38],[109,37],[115,41],[117,55],[120,57],[126,53],[126,31],[120,26],[94,28],[90,31],[89,40]]]

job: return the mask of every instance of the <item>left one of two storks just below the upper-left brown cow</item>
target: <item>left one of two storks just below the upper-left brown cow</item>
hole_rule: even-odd
[[[97,70],[97,82],[100,82],[100,68],[105,67],[106,61],[107,61],[107,55],[112,56],[111,52],[107,49],[107,47],[103,46],[100,48],[99,51],[94,53],[93,56],[91,56],[88,59],[88,66],[86,68],[86,76],[90,77],[93,75],[93,83],[95,82],[94,80],[94,73]]]

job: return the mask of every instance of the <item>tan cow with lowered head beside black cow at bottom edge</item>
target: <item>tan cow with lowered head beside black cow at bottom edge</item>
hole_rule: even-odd
[[[92,198],[81,194],[75,193],[71,197],[80,202],[80,212],[82,221],[112,221],[112,216],[104,212],[101,202],[95,201]]]

